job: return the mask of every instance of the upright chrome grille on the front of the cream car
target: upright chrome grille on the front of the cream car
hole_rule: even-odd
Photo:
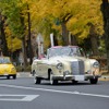
[[[84,61],[73,61],[71,62],[72,74],[82,75],[84,74]]]

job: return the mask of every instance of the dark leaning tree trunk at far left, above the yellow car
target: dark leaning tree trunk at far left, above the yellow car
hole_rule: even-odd
[[[1,50],[3,56],[9,56],[8,44],[5,39],[4,33],[4,20],[2,20],[2,15],[0,14],[0,31],[1,31]]]

